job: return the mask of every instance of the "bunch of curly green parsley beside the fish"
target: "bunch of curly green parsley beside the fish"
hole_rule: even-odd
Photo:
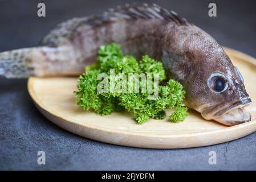
[[[127,110],[133,113],[135,121],[139,124],[144,123],[149,118],[164,119],[166,117],[165,109],[172,109],[172,114],[169,116],[169,121],[179,122],[184,121],[188,115],[188,108],[182,104],[185,97],[185,91],[182,85],[170,79],[166,85],[159,85],[153,82],[155,75],[158,74],[159,82],[165,80],[165,71],[160,61],[156,61],[145,55],[140,61],[131,55],[124,56],[119,45],[112,43],[105,46],[100,46],[97,56],[97,64],[90,65],[85,68],[86,72],[78,78],[78,91],[74,91],[76,104],[84,110],[94,110],[95,113],[101,115],[111,114],[113,111]],[[148,99],[152,93],[145,89],[142,92],[142,81],[139,82],[139,90],[141,92],[97,92],[97,86],[102,80],[97,80],[100,73],[111,75],[111,69],[115,69],[115,76],[118,73],[123,73],[126,77],[126,84],[121,85],[120,89],[128,90],[128,77],[131,73],[140,75],[147,73],[152,77],[152,84],[146,85],[157,90],[155,99]],[[107,89],[110,88],[110,79],[106,82]],[[115,86],[118,80],[114,81]],[[131,85],[131,82],[130,82]],[[132,89],[135,89],[135,81],[132,82]]]

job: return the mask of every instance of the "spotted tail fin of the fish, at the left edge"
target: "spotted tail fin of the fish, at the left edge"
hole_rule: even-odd
[[[0,76],[6,78],[27,78],[34,75],[35,65],[30,53],[35,48],[22,48],[0,53]]]

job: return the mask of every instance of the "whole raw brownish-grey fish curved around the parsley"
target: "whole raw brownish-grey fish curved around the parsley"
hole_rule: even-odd
[[[100,15],[58,24],[38,47],[0,53],[0,75],[75,76],[95,64],[97,49],[117,43],[125,54],[162,61],[168,78],[179,81],[184,103],[206,120],[227,126],[251,120],[243,78],[224,49],[205,31],[156,4],[117,6]]]

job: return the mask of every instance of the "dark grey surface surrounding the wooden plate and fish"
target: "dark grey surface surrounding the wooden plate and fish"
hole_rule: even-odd
[[[46,3],[46,17],[36,14]],[[0,1],[0,52],[37,46],[56,23],[99,14],[130,1]],[[131,1],[134,2],[134,1]],[[227,47],[256,57],[256,11],[253,1],[141,1],[172,9],[209,32]],[[208,4],[217,3],[217,17]],[[256,133],[232,142],[181,150],[149,150],[100,143],[68,133],[36,110],[27,80],[0,78],[0,169],[256,169]],[[37,152],[46,152],[46,165]],[[217,165],[208,153],[217,152]]]

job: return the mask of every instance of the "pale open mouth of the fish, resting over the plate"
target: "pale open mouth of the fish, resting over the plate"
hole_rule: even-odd
[[[227,126],[239,125],[241,123],[251,121],[251,114],[246,111],[245,106],[251,104],[250,98],[245,98],[233,102],[232,104],[227,103],[224,106],[216,106],[213,110],[217,111],[204,111],[202,116],[206,119],[213,119]]]

